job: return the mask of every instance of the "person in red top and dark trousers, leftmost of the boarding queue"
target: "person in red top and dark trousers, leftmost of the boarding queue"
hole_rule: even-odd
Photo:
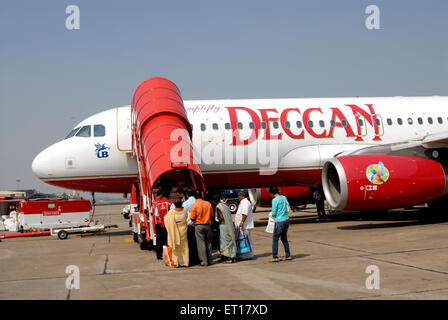
[[[173,209],[173,202],[168,199],[169,191],[162,190],[161,197],[155,207],[155,227],[156,227],[156,255],[157,259],[163,259],[163,246],[167,245],[167,232],[165,227],[165,215]]]

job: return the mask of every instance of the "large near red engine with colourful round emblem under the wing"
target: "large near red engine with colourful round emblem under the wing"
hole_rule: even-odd
[[[337,210],[408,207],[447,194],[446,174],[434,160],[397,155],[352,155],[324,164],[322,186]]]

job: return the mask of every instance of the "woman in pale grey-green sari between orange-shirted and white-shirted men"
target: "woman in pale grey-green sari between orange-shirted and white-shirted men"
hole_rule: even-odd
[[[219,194],[212,198],[215,207],[215,216],[219,221],[219,252],[225,257],[225,263],[236,262],[235,229],[232,222],[232,214],[229,207],[221,201]]]

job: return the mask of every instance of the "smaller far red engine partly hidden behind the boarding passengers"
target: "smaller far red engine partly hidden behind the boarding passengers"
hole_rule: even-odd
[[[299,206],[312,203],[311,191],[309,187],[281,187],[279,191],[284,195],[291,206]],[[272,196],[268,189],[249,189],[249,199],[257,207],[270,207]]]

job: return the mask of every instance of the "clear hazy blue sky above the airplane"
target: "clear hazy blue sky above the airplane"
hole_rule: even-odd
[[[447,96],[447,15],[446,0],[1,1],[0,190],[61,191],[34,157],[153,76],[186,100]]]

